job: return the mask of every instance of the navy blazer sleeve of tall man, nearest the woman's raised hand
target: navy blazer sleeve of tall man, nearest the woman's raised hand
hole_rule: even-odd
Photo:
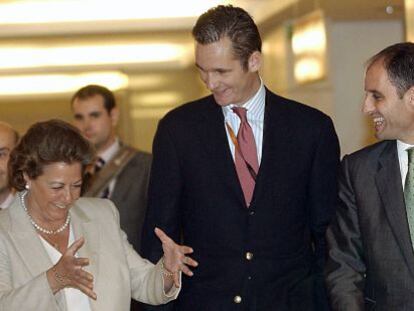
[[[174,241],[180,241],[179,201],[182,189],[179,158],[172,131],[161,120],[153,143],[148,207],[142,232],[143,257],[157,262],[163,255],[161,242],[154,234],[154,228],[164,230]],[[172,310],[173,302],[165,306],[150,307],[145,310]]]

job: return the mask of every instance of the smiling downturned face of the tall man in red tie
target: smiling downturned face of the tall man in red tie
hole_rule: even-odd
[[[233,55],[229,38],[210,44],[196,44],[196,66],[201,80],[211,91],[220,106],[242,105],[254,95],[260,86],[257,74],[260,68],[260,52],[254,52],[247,70]]]

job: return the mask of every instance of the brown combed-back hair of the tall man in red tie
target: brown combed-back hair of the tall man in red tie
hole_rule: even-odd
[[[234,55],[248,68],[250,55],[262,51],[262,39],[252,17],[242,8],[219,5],[202,14],[192,31],[199,44],[210,44],[228,37]]]

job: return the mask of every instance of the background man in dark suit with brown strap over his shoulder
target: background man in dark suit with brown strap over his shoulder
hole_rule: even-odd
[[[106,197],[119,209],[121,228],[136,251],[147,206],[151,155],[123,144],[116,136],[119,110],[113,93],[88,85],[72,97],[74,124],[96,148],[95,174],[85,196]],[[131,310],[141,310],[133,301]]]

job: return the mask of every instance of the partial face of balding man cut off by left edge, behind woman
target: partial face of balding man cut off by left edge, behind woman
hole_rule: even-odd
[[[15,146],[16,137],[13,131],[0,124],[0,193],[8,191],[7,163],[10,152]]]

